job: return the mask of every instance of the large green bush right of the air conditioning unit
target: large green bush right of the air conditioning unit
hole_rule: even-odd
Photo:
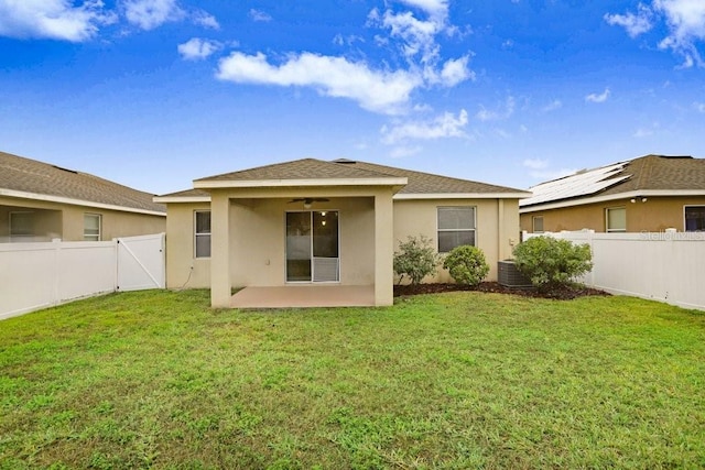
[[[593,269],[588,244],[553,237],[533,237],[514,249],[514,264],[531,283],[544,291],[565,286]]]

